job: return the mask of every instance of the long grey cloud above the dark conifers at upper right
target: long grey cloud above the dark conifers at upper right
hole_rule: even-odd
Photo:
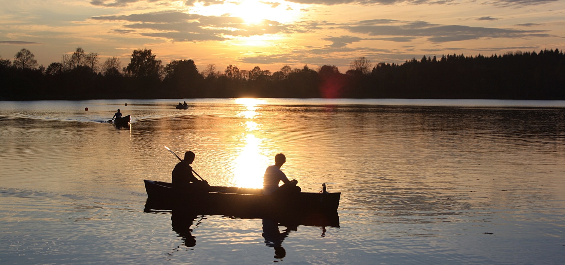
[[[546,31],[524,31],[505,28],[469,27],[466,25],[440,25],[425,21],[399,22],[391,21],[360,21],[357,24],[344,25],[343,28],[351,33],[363,33],[369,36],[386,36],[402,38],[427,38],[428,41],[449,42],[478,40],[481,38],[528,38],[528,37],[551,37]]]

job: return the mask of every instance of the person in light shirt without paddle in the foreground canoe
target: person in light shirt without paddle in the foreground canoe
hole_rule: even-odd
[[[282,164],[285,162],[284,154],[275,155],[275,164],[267,167],[263,176],[263,195],[300,192],[300,187],[296,185],[298,181],[288,180],[285,173],[281,171]],[[280,181],[284,184],[279,187]]]

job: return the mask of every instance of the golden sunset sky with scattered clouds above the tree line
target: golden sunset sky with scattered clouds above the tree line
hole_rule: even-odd
[[[0,57],[45,67],[77,47],[99,62],[151,49],[163,65],[316,69],[366,57],[505,54],[565,48],[565,0],[0,0]]]

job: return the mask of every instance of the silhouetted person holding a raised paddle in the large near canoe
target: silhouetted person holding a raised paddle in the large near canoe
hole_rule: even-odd
[[[196,155],[193,151],[186,151],[184,159],[177,163],[172,173],[173,189],[177,190],[206,190],[208,182],[206,180],[198,180],[192,173],[192,162]]]

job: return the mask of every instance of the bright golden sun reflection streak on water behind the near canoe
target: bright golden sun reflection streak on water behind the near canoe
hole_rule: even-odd
[[[260,109],[257,105],[264,101],[254,98],[238,98],[235,102],[245,107],[245,110],[238,114],[245,119],[240,123],[245,132],[242,133],[241,138],[243,146],[240,147],[236,159],[233,160],[233,183],[238,187],[262,188],[263,174],[270,159],[261,151],[263,139],[255,136],[255,133],[260,131],[260,124],[255,120],[258,119]]]

